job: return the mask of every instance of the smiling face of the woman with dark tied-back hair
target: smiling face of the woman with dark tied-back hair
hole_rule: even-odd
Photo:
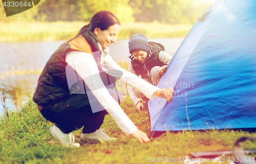
[[[114,24],[109,26],[109,29],[101,31],[100,28],[95,28],[93,33],[97,37],[103,49],[108,48],[110,44],[116,42],[116,35],[120,31],[120,25]]]

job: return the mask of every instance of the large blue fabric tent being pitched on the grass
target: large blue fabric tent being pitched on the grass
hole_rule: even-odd
[[[219,0],[194,24],[148,102],[152,131],[256,127],[256,1]]]

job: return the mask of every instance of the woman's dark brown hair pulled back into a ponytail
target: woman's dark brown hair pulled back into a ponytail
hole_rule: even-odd
[[[91,32],[93,32],[95,28],[100,28],[100,30],[102,31],[107,30],[111,25],[114,25],[114,24],[121,25],[119,20],[113,13],[109,11],[100,11],[94,14],[89,24],[84,25],[82,27],[82,29],[79,31],[77,36],[80,34],[83,34],[87,30],[90,30]]]

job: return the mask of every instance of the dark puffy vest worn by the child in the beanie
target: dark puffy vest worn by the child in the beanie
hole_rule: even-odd
[[[144,64],[140,63],[139,61],[135,60],[133,55],[129,58],[131,59],[131,63],[133,69],[141,75],[142,78],[149,78],[150,79],[150,71],[155,66],[164,66],[163,62],[159,60],[159,51],[164,51],[164,46],[160,43],[156,42],[148,42],[150,45],[150,52],[147,53],[147,58]]]

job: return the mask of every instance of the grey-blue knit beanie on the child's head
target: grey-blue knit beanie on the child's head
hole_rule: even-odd
[[[135,34],[129,40],[129,52],[143,50],[146,52],[150,51],[150,45],[147,43],[147,37],[144,34]]]

